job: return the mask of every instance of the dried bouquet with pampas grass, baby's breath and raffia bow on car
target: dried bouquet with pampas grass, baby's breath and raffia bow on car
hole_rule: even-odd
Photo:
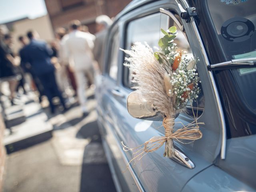
[[[132,72],[132,77],[143,98],[152,103],[155,110],[163,116],[165,136],[153,137],[144,144],[136,147],[134,158],[130,161],[140,160],[148,152],[153,152],[164,143],[164,156],[173,157],[173,139],[197,140],[202,138],[199,130],[197,117],[195,120],[183,125],[182,128],[173,132],[175,115],[184,111],[188,102],[198,98],[200,89],[198,87],[199,77],[194,69],[196,60],[188,58],[187,53],[178,50],[174,43],[177,35],[176,27],[169,30],[161,29],[164,37],[158,42],[159,52],[153,52],[152,48],[145,42],[136,42],[131,50],[123,50],[126,57],[125,66]],[[194,112],[193,112],[194,113]],[[124,150],[134,150],[124,146]]]

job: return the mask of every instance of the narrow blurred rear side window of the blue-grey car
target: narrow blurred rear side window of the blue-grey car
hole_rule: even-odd
[[[108,74],[109,76],[117,80],[117,70],[118,70],[118,50],[119,50],[119,32],[116,30],[113,33],[111,38],[111,49],[110,49],[110,57],[108,59]]]

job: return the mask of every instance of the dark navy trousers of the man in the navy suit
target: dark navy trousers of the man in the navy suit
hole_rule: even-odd
[[[49,100],[51,111],[52,112],[55,111],[55,106],[52,103],[52,98],[54,98],[56,96],[58,96],[58,98],[60,99],[62,106],[64,108],[66,108],[64,99],[62,98],[62,94],[61,94],[60,90],[58,89],[58,85],[56,83],[54,71],[48,72],[46,74],[38,75],[38,78],[44,88],[44,95],[46,95],[46,97]]]

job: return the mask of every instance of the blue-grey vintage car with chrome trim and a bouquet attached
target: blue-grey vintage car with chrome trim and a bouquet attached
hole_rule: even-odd
[[[256,1],[134,0],[108,30],[104,71],[96,77],[98,124],[117,191],[256,190]],[[193,121],[198,111],[203,137],[174,140],[179,160],[164,146],[129,164],[129,147],[164,135],[159,119],[134,118],[127,110],[131,72],[123,65],[134,42],[158,46],[160,28],[176,26],[177,46],[199,62],[202,89],[175,122]],[[181,128],[175,124],[175,129]],[[128,168],[126,170],[126,166]]]

